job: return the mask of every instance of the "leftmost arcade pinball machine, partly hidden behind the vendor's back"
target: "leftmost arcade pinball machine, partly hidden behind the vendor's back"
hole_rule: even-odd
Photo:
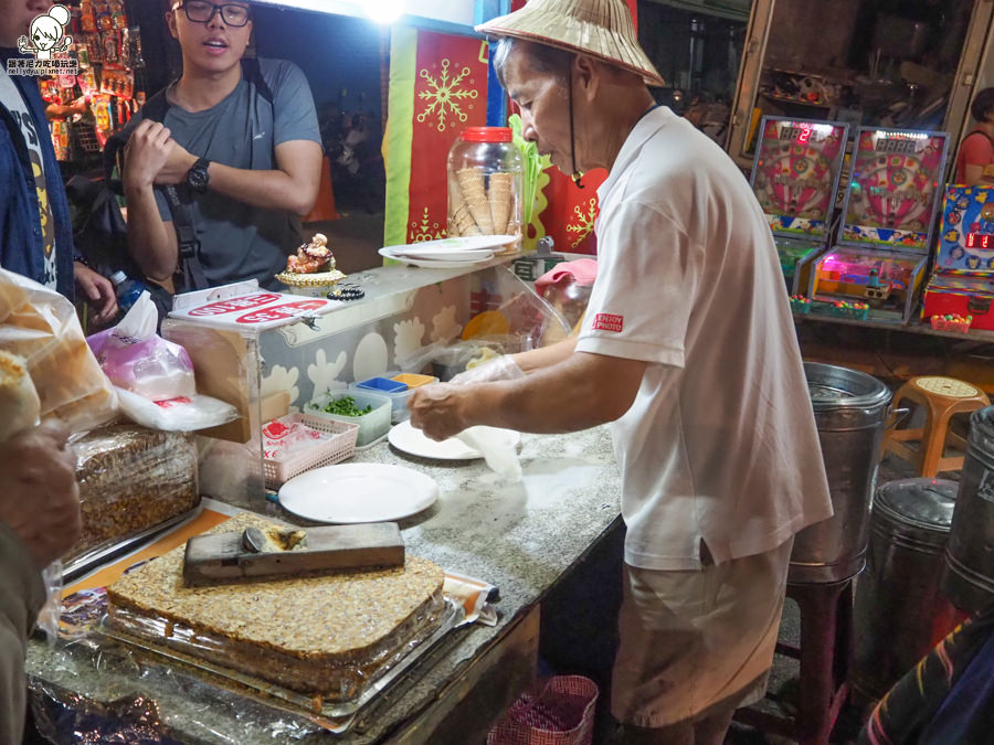
[[[791,295],[810,295],[812,260],[828,245],[849,127],[763,117],[752,191],[770,228]]]

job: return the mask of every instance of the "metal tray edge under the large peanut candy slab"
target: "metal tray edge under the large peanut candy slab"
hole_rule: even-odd
[[[139,639],[138,637],[113,629],[107,624],[106,616],[94,626],[92,632],[96,636],[103,636],[107,639],[121,642],[127,647],[137,649],[141,652],[148,652],[154,658],[178,662],[186,668],[209,673],[215,679],[219,679],[218,682],[220,684],[231,684],[235,692],[244,694],[245,689],[248,689],[250,693],[262,694],[262,698],[264,700],[268,699],[269,702],[272,702],[273,699],[276,699],[288,704],[288,709],[296,710],[299,714],[320,714],[321,716],[331,719],[341,719],[351,716],[366,704],[373,701],[381,691],[390,687],[391,683],[405,671],[410,670],[422,656],[432,649],[432,647],[437,645],[448,631],[458,626],[464,616],[465,610],[463,609],[462,604],[446,595],[445,605],[440,613],[438,622],[427,637],[417,641],[416,646],[410,652],[382,675],[372,679],[355,699],[345,702],[326,702],[321,704],[320,710],[315,709],[314,700],[310,696],[298,693],[297,691],[290,691],[289,689],[283,688],[276,683],[271,683],[261,678],[248,675],[207,660],[198,659],[175,649],[161,647],[150,641],[146,641],[145,639]]]

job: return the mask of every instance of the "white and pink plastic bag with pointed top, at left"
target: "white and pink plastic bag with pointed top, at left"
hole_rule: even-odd
[[[192,396],[197,383],[190,355],[156,333],[157,321],[151,296],[142,292],[117,326],[86,341],[117,387],[149,401]]]

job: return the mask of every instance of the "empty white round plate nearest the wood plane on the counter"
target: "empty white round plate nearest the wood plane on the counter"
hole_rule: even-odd
[[[430,476],[388,464],[341,464],[295,476],[279,488],[288,512],[315,522],[400,520],[438,498]]]

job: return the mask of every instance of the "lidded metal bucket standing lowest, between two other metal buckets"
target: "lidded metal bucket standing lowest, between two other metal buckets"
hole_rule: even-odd
[[[901,479],[877,490],[866,572],[856,578],[853,687],[881,698],[960,620],[939,593],[955,481]]]

